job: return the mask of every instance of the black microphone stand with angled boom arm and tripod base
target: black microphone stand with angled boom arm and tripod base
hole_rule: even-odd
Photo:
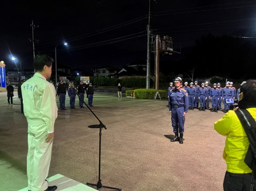
[[[92,114],[97,118],[97,120],[99,121],[99,125],[92,125],[89,127],[92,128],[99,128],[99,175],[98,175],[98,182],[97,184],[92,184],[87,182],[87,185],[91,185],[91,186],[96,186],[97,189],[99,188],[110,188],[110,189],[116,189],[116,190],[122,190],[121,188],[116,188],[116,187],[110,187],[110,186],[103,186],[100,180],[100,157],[101,157],[101,130],[102,128],[106,129],[106,126],[99,120],[99,118],[96,116],[96,114],[92,111],[92,109],[84,102],[84,100],[81,99],[81,97],[79,96],[79,93],[77,91],[77,89],[74,87],[73,84],[70,83],[70,81],[68,79],[66,79],[66,83],[68,83],[69,85],[71,85],[71,87],[74,89],[74,91],[76,92],[78,98],[84,103],[84,105],[87,106],[87,108],[92,112]]]

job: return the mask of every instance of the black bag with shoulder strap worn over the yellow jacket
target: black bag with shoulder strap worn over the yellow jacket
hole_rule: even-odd
[[[239,109],[236,111],[236,114],[250,143],[244,162],[249,166],[250,169],[252,169],[254,173],[256,173],[256,165],[253,165],[253,163],[256,161],[253,161],[253,159],[256,158],[256,122],[246,109]]]

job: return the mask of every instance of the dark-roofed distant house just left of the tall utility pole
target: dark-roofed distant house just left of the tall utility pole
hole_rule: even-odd
[[[134,62],[124,66],[117,74],[118,78],[146,77],[146,64]]]

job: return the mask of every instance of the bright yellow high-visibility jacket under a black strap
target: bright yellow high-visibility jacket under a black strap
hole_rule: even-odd
[[[256,108],[247,109],[256,120]],[[236,174],[251,173],[252,170],[244,162],[249,140],[237,114],[230,110],[215,122],[214,129],[226,136],[223,158],[227,163],[227,171]]]

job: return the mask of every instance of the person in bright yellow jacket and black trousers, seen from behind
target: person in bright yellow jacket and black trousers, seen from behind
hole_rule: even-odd
[[[251,190],[252,170],[244,161],[249,148],[249,140],[235,111],[246,109],[256,120],[255,94],[256,80],[248,80],[240,88],[238,107],[229,110],[214,124],[214,129],[226,136],[223,152],[223,158],[227,164],[223,181],[224,191]]]

